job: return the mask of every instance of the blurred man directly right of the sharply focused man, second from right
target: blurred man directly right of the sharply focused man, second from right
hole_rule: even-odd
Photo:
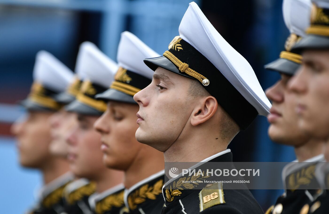
[[[268,115],[270,126],[269,137],[279,144],[294,147],[297,160],[288,164],[283,172],[283,183],[286,190],[275,205],[268,208],[266,214],[298,214],[305,203],[313,200],[318,190],[308,189],[316,182],[316,163],[323,161],[324,141],[306,135],[298,126],[298,116],[295,112],[296,99],[288,90],[288,81],[295,74],[302,62],[302,56],[292,53],[291,48],[295,43],[305,36],[306,29],[310,26],[311,14],[310,0],[284,0],[283,18],[290,35],[285,43],[285,51],[280,53],[280,58],[267,64],[266,69],[280,73],[279,79],[273,86],[266,90],[266,96],[272,100],[272,108]],[[309,164],[298,164],[296,162],[311,162]],[[298,185],[295,175],[306,170],[311,173],[307,178],[309,185]],[[317,184],[318,189],[320,186]]]

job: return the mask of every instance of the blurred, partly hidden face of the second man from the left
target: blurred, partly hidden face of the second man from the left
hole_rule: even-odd
[[[50,118],[50,132],[51,132],[51,143],[50,153],[53,155],[61,156],[66,158],[68,154],[68,145],[66,143],[67,136],[72,131],[71,129],[76,124],[75,114],[72,112],[65,111],[62,108],[60,111],[55,112]]]

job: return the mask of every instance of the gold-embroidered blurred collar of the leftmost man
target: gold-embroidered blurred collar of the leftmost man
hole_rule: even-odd
[[[52,205],[59,203],[62,199],[64,188],[73,180],[73,178],[72,173],[67,172],[47,185],[44,185],[38,193],[41,205],[44,207],[51,207]]]

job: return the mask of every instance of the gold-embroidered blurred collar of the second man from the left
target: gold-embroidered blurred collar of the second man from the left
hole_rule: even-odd
[[[85,196],[90,196],[96,190],[96,184],[90,182],[88,179],[81,178],[68,184],[63,192],[65,202],[68,204],[74,204],[77,201],[82,200]]]

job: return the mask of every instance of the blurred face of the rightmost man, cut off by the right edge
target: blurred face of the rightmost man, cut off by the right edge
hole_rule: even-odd
[[[302,67],[289,81],[296,96],[298,125],[307,134],[329,138],[329,50],[305,50]]]

